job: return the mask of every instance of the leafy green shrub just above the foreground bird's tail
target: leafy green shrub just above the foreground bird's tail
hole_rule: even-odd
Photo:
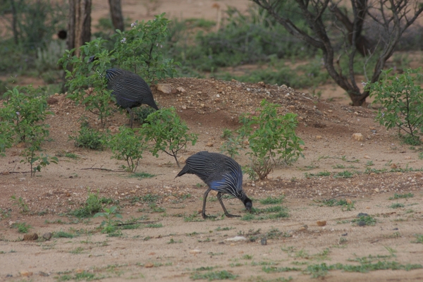
[[[165,152],[172,156],[176,164],[180,166],[178,152],[180,149],[185,149],[188,142],[195,145],[197,135],[195,133],[188,134],[188,126],[181,121],[174,107],[154,111],[147,117],[147,122],[142,125],[140,134],[145,136],[146,142],[154,142],[150,149],[152,154],[159,157],[157,152]]]

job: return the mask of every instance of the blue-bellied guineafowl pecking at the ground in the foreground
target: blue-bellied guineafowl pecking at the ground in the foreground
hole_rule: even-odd
[[[234,217],[235,215],[229,214],[226,210],[221,199],[222,194],[233,195],[244,203],[248,212],[251,211],[252,202],[243,190],[243,171],[232,158],[226,157],[224,154],[198,152],[186,160],[185,166],[176,177],[183,176],[185,173],[195,174],[209,186],[209,189],[204,192],[203,219],[207,218],[206,200],[210,190],[218,191],[217,200],[221,203],[226,216]]]

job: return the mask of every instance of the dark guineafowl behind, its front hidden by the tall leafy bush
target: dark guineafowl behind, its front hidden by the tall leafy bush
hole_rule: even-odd
[[[95,56],[90,56],[88,63],[96,60]],[[107,88],[112,90],[111,94],[116,98],[116,103],[130,114],[130,127],[133,127],[134,114],[132,109],[146,104],[158,110],[154,102],[153,93],[147,82],[140,75],[120,68],[110,68],[106,70]]]

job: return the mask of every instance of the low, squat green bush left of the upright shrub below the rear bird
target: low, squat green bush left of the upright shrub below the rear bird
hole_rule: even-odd
[[[77,136],[69,136],[69,140],[73,140],[75,142],[75,147],[95,150],[104,149],[105,139],[106,136],[98,130],[90,128],[90,124],[87,121],[82,121]]]

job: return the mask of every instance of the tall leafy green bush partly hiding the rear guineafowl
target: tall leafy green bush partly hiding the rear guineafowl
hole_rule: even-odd
[[[161,49],[168,35],[168,22],[164,14],[146,23],[135,22],[130,30],[117,30],[110,40],[98,37],[87,42],[80,47],[81,56],[74,55],[75,49],[66,50],[59,63],[66,72],[66,86],[71,93],[68,97],[97,114],[105,126],[107,117],[112,114],[109,102],[114,99],[107,89],[106,69],[116,64],[147,82],[173,76],[176,63],[165,59]],[[110,51],[109,45],[114,46]],[[96,56],[97,60],[87,63],[90,56]]]

